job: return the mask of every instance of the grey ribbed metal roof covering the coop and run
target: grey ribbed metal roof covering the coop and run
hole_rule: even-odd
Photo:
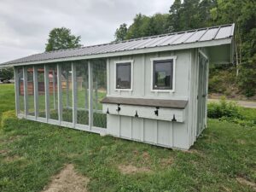
[[[32,64],[34,63],[45,63],[53,61],[65,61],[67,58],[72,58],[73,60],[82,58],[99,58],[113,56],[111,53],[119,53],[115,55],[121,55],[124,53],[137,54],[142,53],[142,51],[134,51],[147,49],[147,52],[155,52],[160,47],[172,47],[176,49],[177,45],[186,44],[179,49],[189,49],[193,48],[192,44],[201,43],[211,43],[211,44],[201,44],[201,46],[214,46],[214,42],[221,39],[231,39],[234,35],[235,24],[229,24],[224,26],[212,26],[208,28],[201,28],[195,30],[189,30],[184,32],[174,32],[164,35],[151,36],[147,38],[136,38],[121,42],[113,42],[110,44],[98,44],[93,46],[87,46],[76,49],[62,49],[50,52],[44,52],[36,55],[29,55],[14,61],[8,61],[2,65],[17,65],[17,64]],[[225,44],[230,44],[226,42]],[[132,52],[131,52],[132,50]],[[159,51],[159,50],[158,50]],[[126,53],[126,55],[127,55]],[[81,56],[88,57],[81,57]],[[89,56],[90,55],[90,56]],[[61,60],[60,60],[61,59]]]

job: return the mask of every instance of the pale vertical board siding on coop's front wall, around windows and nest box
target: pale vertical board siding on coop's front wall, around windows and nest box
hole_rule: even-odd
[[[175,86],[172,92],[151,91],[151,58],[177,56]],[[115,81],[114,61],[133,60],[133,90],[115,90],[112,86]],[[108,96],[133,97],[133,98],[158,98],[158,99],[185,99],[191,96],[189,91],[191,73],[194,73],[191,61],[191,50],[166,51],[154,54],[119,56],[109,58],[108,69]],[[188,75],[189,74],[189,75]],[[184,109],[183,123],[172,123],[162,120],[132,118],[108,114],[107,132],[115,137],[124,137],[143,143],[152,143],[168,148],[189,148],[191,143],[191,119],[188,119],[188,105]]]

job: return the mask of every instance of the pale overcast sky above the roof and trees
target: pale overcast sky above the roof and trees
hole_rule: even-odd
[[[0,63],[44,52],[49,31],[65,26],[81,44],[113,41],[136,14],[168,13],[174,0],[0,0]]]

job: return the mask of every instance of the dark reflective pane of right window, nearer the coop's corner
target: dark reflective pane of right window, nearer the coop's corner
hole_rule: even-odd
[[[172,61],[154,61],[154,90],[172,90],[172,78]]]

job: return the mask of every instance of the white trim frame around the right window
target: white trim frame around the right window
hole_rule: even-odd
[[[175,92],[175,77],[176,77],[176,59],[177,56],[165,56],[165,57],[155,57],[151,58],[151,84],[150,84],[150,90],[152,92]],[[165,61],[165,60],[173,60],[173,78],[172,78],[172,90],[154,90],[153,89],[153,73],[154,73],[154,61]]]

